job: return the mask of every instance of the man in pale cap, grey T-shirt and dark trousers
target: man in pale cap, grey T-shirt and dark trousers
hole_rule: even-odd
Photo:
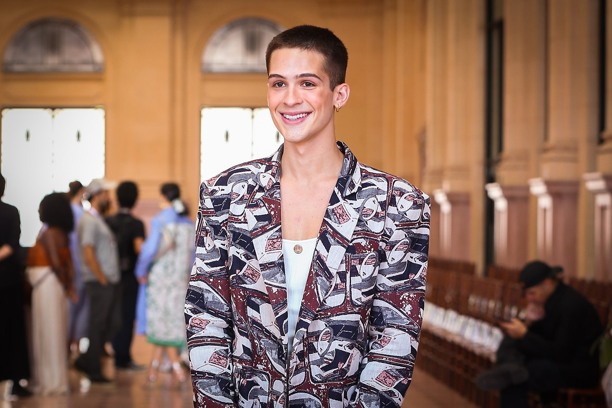
[[[109,189],[113,187],[104,179],[89,183],[85,194],[91,209],[78,224],[81,272],[89,297],[89,347],[75,360],[75,368],[99,384],[111,382],[102,375],[100,358],[105,341],[121,327],[119,251],[113,231],[103,218],[110,209]]]

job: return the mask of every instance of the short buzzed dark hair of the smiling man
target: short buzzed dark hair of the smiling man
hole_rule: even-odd
[[[331,30],[316,26],[297,26],[277,34],[266,50],[268,74],[272,53],[281,48],[299,48],[321,54],[325,60],[323,69],[329,75],[329,86],[332,91],[336,86],[345,82],[348,51],[344,43]]]

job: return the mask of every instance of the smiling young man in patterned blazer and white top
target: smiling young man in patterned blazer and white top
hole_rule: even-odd
[[[347,61],[327,29],[274,37],[268,105],[285,143],[201,185],[185,301],[195,407],[401,406],[429,198],[336,141]]]

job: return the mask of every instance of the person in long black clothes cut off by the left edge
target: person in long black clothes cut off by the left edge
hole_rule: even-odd
[[[29,395],[19,380],[30,373],[19,258],[21,223],[17,208],[2,202],[5,187],[6,179],[0,174],[0,382],[9,380],[4,396],[13,399]]]

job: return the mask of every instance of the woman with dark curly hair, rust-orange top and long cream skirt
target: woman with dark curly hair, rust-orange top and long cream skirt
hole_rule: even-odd
[[[76,301],[68,234],[74,228],[70,202],[51,193],[40,202],[46,224],[29,250],[26,274],[32,285],[32,384],[35,394],[52,395],[68,387],[68,304]]]

